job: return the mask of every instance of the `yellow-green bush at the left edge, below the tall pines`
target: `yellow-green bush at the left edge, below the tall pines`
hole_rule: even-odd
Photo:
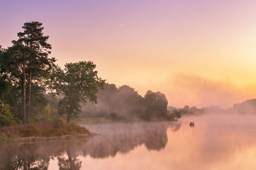
[[[13,117],[12,113],[10,113],[9,104],[0,104],[0,127],[14,125],[17,123],[20,123],[20,120]]]

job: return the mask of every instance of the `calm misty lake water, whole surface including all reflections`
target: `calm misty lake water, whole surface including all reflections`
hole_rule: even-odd
[[[0,169],[256,169],[256,116],[86,127],[101,135],[0,146]]]

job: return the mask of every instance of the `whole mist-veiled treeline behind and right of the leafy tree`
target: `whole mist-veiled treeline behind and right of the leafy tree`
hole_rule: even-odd
[[[142,97],[128,85],[116,87],[115,84],[106,83],[104,89],[99,90],[97,97],[97,104],[82,105],[82,113],[79,117],[106,117],[113,120],[173,119],[167,110],[168,101],[161,92],[148,90]]]

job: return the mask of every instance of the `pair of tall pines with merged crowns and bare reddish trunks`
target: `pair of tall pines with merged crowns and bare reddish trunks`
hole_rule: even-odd
[[[1,50],[1,75],[11,82],[18,92],[22,91],[22,120],[23,124],[28,124],[31,112],[31,86],[35,84],[44,89],[44,80],[49,76],[55,59],[49,58],[51,45],[47,43],[49,36],[44,36],[42,23],[26,22],[22,29],[24,31],[17,34],[19,39],[13,40],[12,46],[7,50]]]

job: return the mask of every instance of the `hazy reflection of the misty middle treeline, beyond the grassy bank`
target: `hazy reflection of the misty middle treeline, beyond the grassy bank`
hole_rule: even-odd
[[[129,153],[136,146],[145,145],[148,150],[161,150],[167,142],[166,131],[170,127],[177,131],[180,124],[170,122],[150,122],[138,124],[110,124],[108,127],[93,129],[102,134],[88,141],[81,150],[83,155],[93,158],[114,157],[116,153]],[[108,132],[105,129],[108,129]]]

